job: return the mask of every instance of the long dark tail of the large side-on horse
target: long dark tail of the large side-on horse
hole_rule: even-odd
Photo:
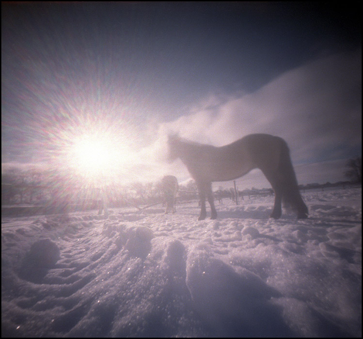
[[[279,171],[284,175],[282,200],[284,207],[292,209],[297,213],[298,218],[306,218],[309,214],[308,208],[302,200],[298,181],[296,179],[295,171],[292,166],[290,150],[283,140]]]

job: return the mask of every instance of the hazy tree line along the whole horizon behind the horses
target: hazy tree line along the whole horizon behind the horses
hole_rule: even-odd
[[[301,190],[362,184],[362,157],[349,159],[346,165],[347,181],[339,183],[312,183],[300,185]],[[244,189],[238,191],[240,197],[273,194],[271,189]],[[74,204],[79,208],[97,208],[102,195],[110,207],[124,207],[152,204],[162,201],[161,178],[155,183],[135,182],[129,185],[105,183],[91,185],[81,175],[60,170],[19,170],[12,169],[1,173],[1,204],[59,205]],[[219,187],[216,199],[234,199],[234,190]],[[179,185],[178,200],[197,199],[197,186],[193,180]]]

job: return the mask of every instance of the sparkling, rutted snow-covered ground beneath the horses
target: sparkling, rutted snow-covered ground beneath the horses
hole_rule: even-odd
[[[2,218],[2,337],[361,337],[362,189]]]

